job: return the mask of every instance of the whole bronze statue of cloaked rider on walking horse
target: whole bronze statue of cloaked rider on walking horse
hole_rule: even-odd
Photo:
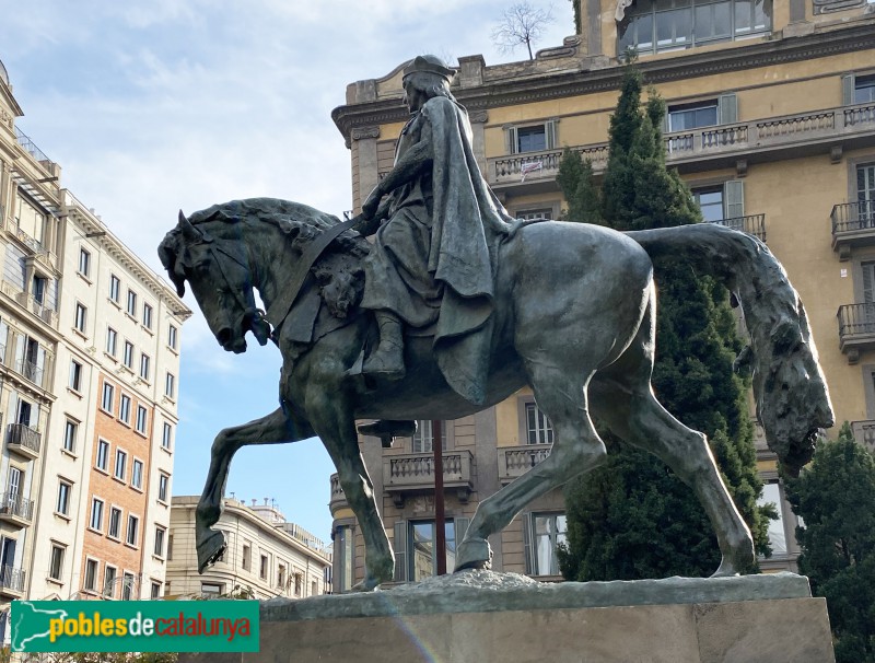
[[[750,532],[705,437],[651,388],[656,291],[651,259],[672,256],[724,283],[750,336],[757,417],[790,473],[810,460],[833,415],[802,302],[766,245],[709,223],[619,233],[512,219],[477,167],[470,124],[434,56],[404,71],[411,118],[395,166],[341,222],[298,202],[235,200],[186,217],[159,247],[179,295],[187,281],[219,345],[247,333],[282,354],[280,406],[219,432],[197,508],[198,568],[224,550],[212,530],[238,449],[318,437],[365,545],[372,590],[394,556],[357,434],[410,434],[415,419],[457,419],[529,385],[553,428],[550,455],[483,499],[456,570],[488,567],[487,537],[538,496],[598,467],[615,434],[662,458],[696,493],[722,560],[746,572]],[[364,237],[374,234],[374,241]],[[257,290],[266,311],[255,303]]]

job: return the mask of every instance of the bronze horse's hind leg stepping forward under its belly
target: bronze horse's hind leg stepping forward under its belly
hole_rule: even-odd
[[[605,444],[587,410],[588,377],[534,361],[526,361],[526,369],[538,407],[552,424],[552,450],[541,463],[480,502],[458,547],[456,571],[488,568],[492,557],[488,536],[506,527],[532,500],[605,462]]]

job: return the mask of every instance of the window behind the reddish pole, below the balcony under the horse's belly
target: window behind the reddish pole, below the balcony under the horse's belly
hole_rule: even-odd
[[[457,527],[458,525],[458,527]],[[444,525],[446,536],[446,568],[452,569],[456,559],[456,533],[462,537],[468,527],[468,519],[447,520]],[[434,521],[398,521],[395,523],[395,580],[420,581],[438,573],[438,558],[434,555]]]

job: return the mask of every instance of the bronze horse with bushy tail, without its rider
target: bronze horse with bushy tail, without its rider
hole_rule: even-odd
[[[159,248],[180,294],[185,281],[190,283],[225,350],[245,351],[247,332],[267,341],[270,328],[254,303],[257,289],[283,358],[281,406],[221,431],[213,443],[197,509],[201,571],[224,549],[222,534],[211,526],[221,513],[234,453],[247,444],[318,435],[364,536],[361,589],[390,580],[392,546],[359,451],[355,420],[457,419],[525,384],[552,422],[552,452],[479,504],[457,550],[457,570],[488,565],[489,535],[529,501],[604,462],[605,445],[591,414],[628,443],[656,454],[692,488],[720,544],[715,575],[749,568],[750,532],[705,437],[672,417],[651,388],[656,300],[650,255],[687,261],[734,292],[751,337],[746,354],[758,418],[780,462],[797,472],[810,458],[818,429],[832,424],[832,411],[802,303],[765,244],[707,223],[626,234],[553,221],[521,229],[499,253],[488,397],[477,407],[446,385],[429,338],[407,339],[407,376],[399,382],[365,380],[355,370],[371,319],[355,307],[368,243],[353,231],[316,261],[294,306],[272,311],[302,253],[336,223],[335,217],[291,201],[241,200],[189,218],[180,212]]]

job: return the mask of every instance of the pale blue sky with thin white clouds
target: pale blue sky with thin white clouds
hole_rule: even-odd
[[[511,2],[0,0],[0,61],[16,126],[60,164],[61,186],[163,274],[155,248],[179,209],[255,196],[351,209],[350,153],[330,117],[347,84],[428,53],[524,59],[491,40]],[[567,0],[529,3],[555,19],[537,48],[574,33]],[[200,495],[215,433],[276,409],[280,356],[252,337],[245,354],[223,351],[185,301],[173,493]],[[228,493],[276,502],[328,542],[332,472],[317,439],[244,447]]]

